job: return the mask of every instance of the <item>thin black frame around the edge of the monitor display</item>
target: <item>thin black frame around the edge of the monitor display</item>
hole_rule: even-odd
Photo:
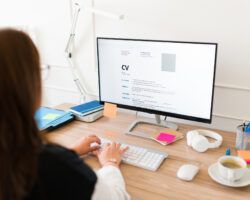
[[[171,112],[165,112],[165,111],[159,111],[159,110],[152,110],[148,108],[141,108],[136,106],[130,106],[130,105],[124,105],[119,104],[116,102],[111,101],[103,101],[101,99],[101,84],[100,84],[100,61],[99,61],[99,40],[127,40],[127,41],[142,41],[142,42],[168,42],[168,43],[188,43],[188,44],[204,44],[204,45],[214,45],[215,46],[215,59],[214,59],[214,74],[213,74],[213,83],[212,83],[212,97],[211,97],[211,106],[210,106],[210,117],[207,118],[201,118],[201,117],[195,117],[190,115],[182,115],[182,114],[176,114]],[[190,42],[190,41],[172,41],[172,40],[150,40],[150,39],[131,39],[131,38],[113,38],[113,37],[96,37],[96,45],[97,45],[97,66],[98,66],[98,87],[99,87],[99,101],[101,104],[107,103],[113,103],[116,104],[119,108],[139,111],[139,112],[146,112],[149,114],[156,114],[156,115],[163,115],[167,117],[174,117],[179,119],[186,119],[191,121],[197,121],[197,122],[203,122],[203,123],[211,123],[212,122],[212,112],[213,112],[213,101],[214,101],[214,87],[215,87],[215,75],[216,75],[216,63],[217,63],[217,49],[218,49],[218,43],[213,42]]]

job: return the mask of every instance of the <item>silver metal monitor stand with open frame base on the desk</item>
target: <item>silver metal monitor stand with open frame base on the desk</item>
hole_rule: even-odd
[[[167,121],[163,121],[163,120],[161,120],[160,115],[155,115],[155,119],[135,120],[129,126],[129,128],[127,129],[125,134],[133,135],[133,136],[137,136],[137,137],[143,137],[143,138],[147,138],[147,139],[152,139],[151,136],[149,134],[147,134],[147,133],[140,132],[140,131],[133,131],[133,129],[139,124],[151,124],[151,125],[156,125],[156,126],[160,126],[160,127],[171,128],[173,130],[178,129],[177,124],[167,122]]]

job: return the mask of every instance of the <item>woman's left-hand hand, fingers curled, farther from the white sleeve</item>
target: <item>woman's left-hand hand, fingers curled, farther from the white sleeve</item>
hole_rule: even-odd
[[[99,145],[91,146],[92,143],[97,143],[100,145],[101,140],[96,135],[89,135],[77,141],[71,149],[77,152],[79,155],[84,155],[100,148]]]

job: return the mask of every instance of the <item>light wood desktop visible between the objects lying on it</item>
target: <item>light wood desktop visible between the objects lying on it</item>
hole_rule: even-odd
[[[156,172],[121,164],[127,190],[132,199],[135,200],[250,199],[250,186],[244,188],[225,187],[214,182],[207,172],[208,167],[225,153],[226,148],[234,147],[234,133],[217,131],[224,139],[222,147],[208,150],[206,153],[198,153],[187,147],[185,139],[168,146],[162,146],[154,141],[125,135],[123,132],[135,119],[135,115],[119,112],[115,119],[102,117],[94,123],[74,121],[67,126],[46,133],[46,138],[68,147],[83,136],[96,134],[107,139],[120,140],[167,152],[169,157]],[[143,125],[139,128],[145,132],[155,132],[161,129],[149,125]],[[197,127],[179,125],[179,131],[184,134],[194,128]],[[95,157],[85,157],[84,160],[93,169],[100,168]],[[176,178],[178,168],[186,163],[195,163],[200,166],[200,172],[192,182],[184,182]]]

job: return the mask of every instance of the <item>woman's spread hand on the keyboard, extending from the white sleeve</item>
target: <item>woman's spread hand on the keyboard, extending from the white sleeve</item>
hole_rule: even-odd
[[[120,147],[119,143],[112,142],[112,144],[106,144],[101,150],[95,151],[100,164],[102,166],[113,165],[119,167],[122,155],[128,149],[128,147],[124,149],[120,149]]]

